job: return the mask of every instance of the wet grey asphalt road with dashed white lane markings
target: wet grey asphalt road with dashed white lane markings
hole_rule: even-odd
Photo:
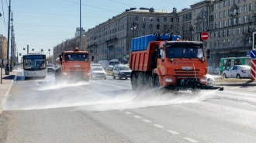
[[[56,83],[18,73],[0,142],[255,142],[256,88],[135,92],[130,80]]]

